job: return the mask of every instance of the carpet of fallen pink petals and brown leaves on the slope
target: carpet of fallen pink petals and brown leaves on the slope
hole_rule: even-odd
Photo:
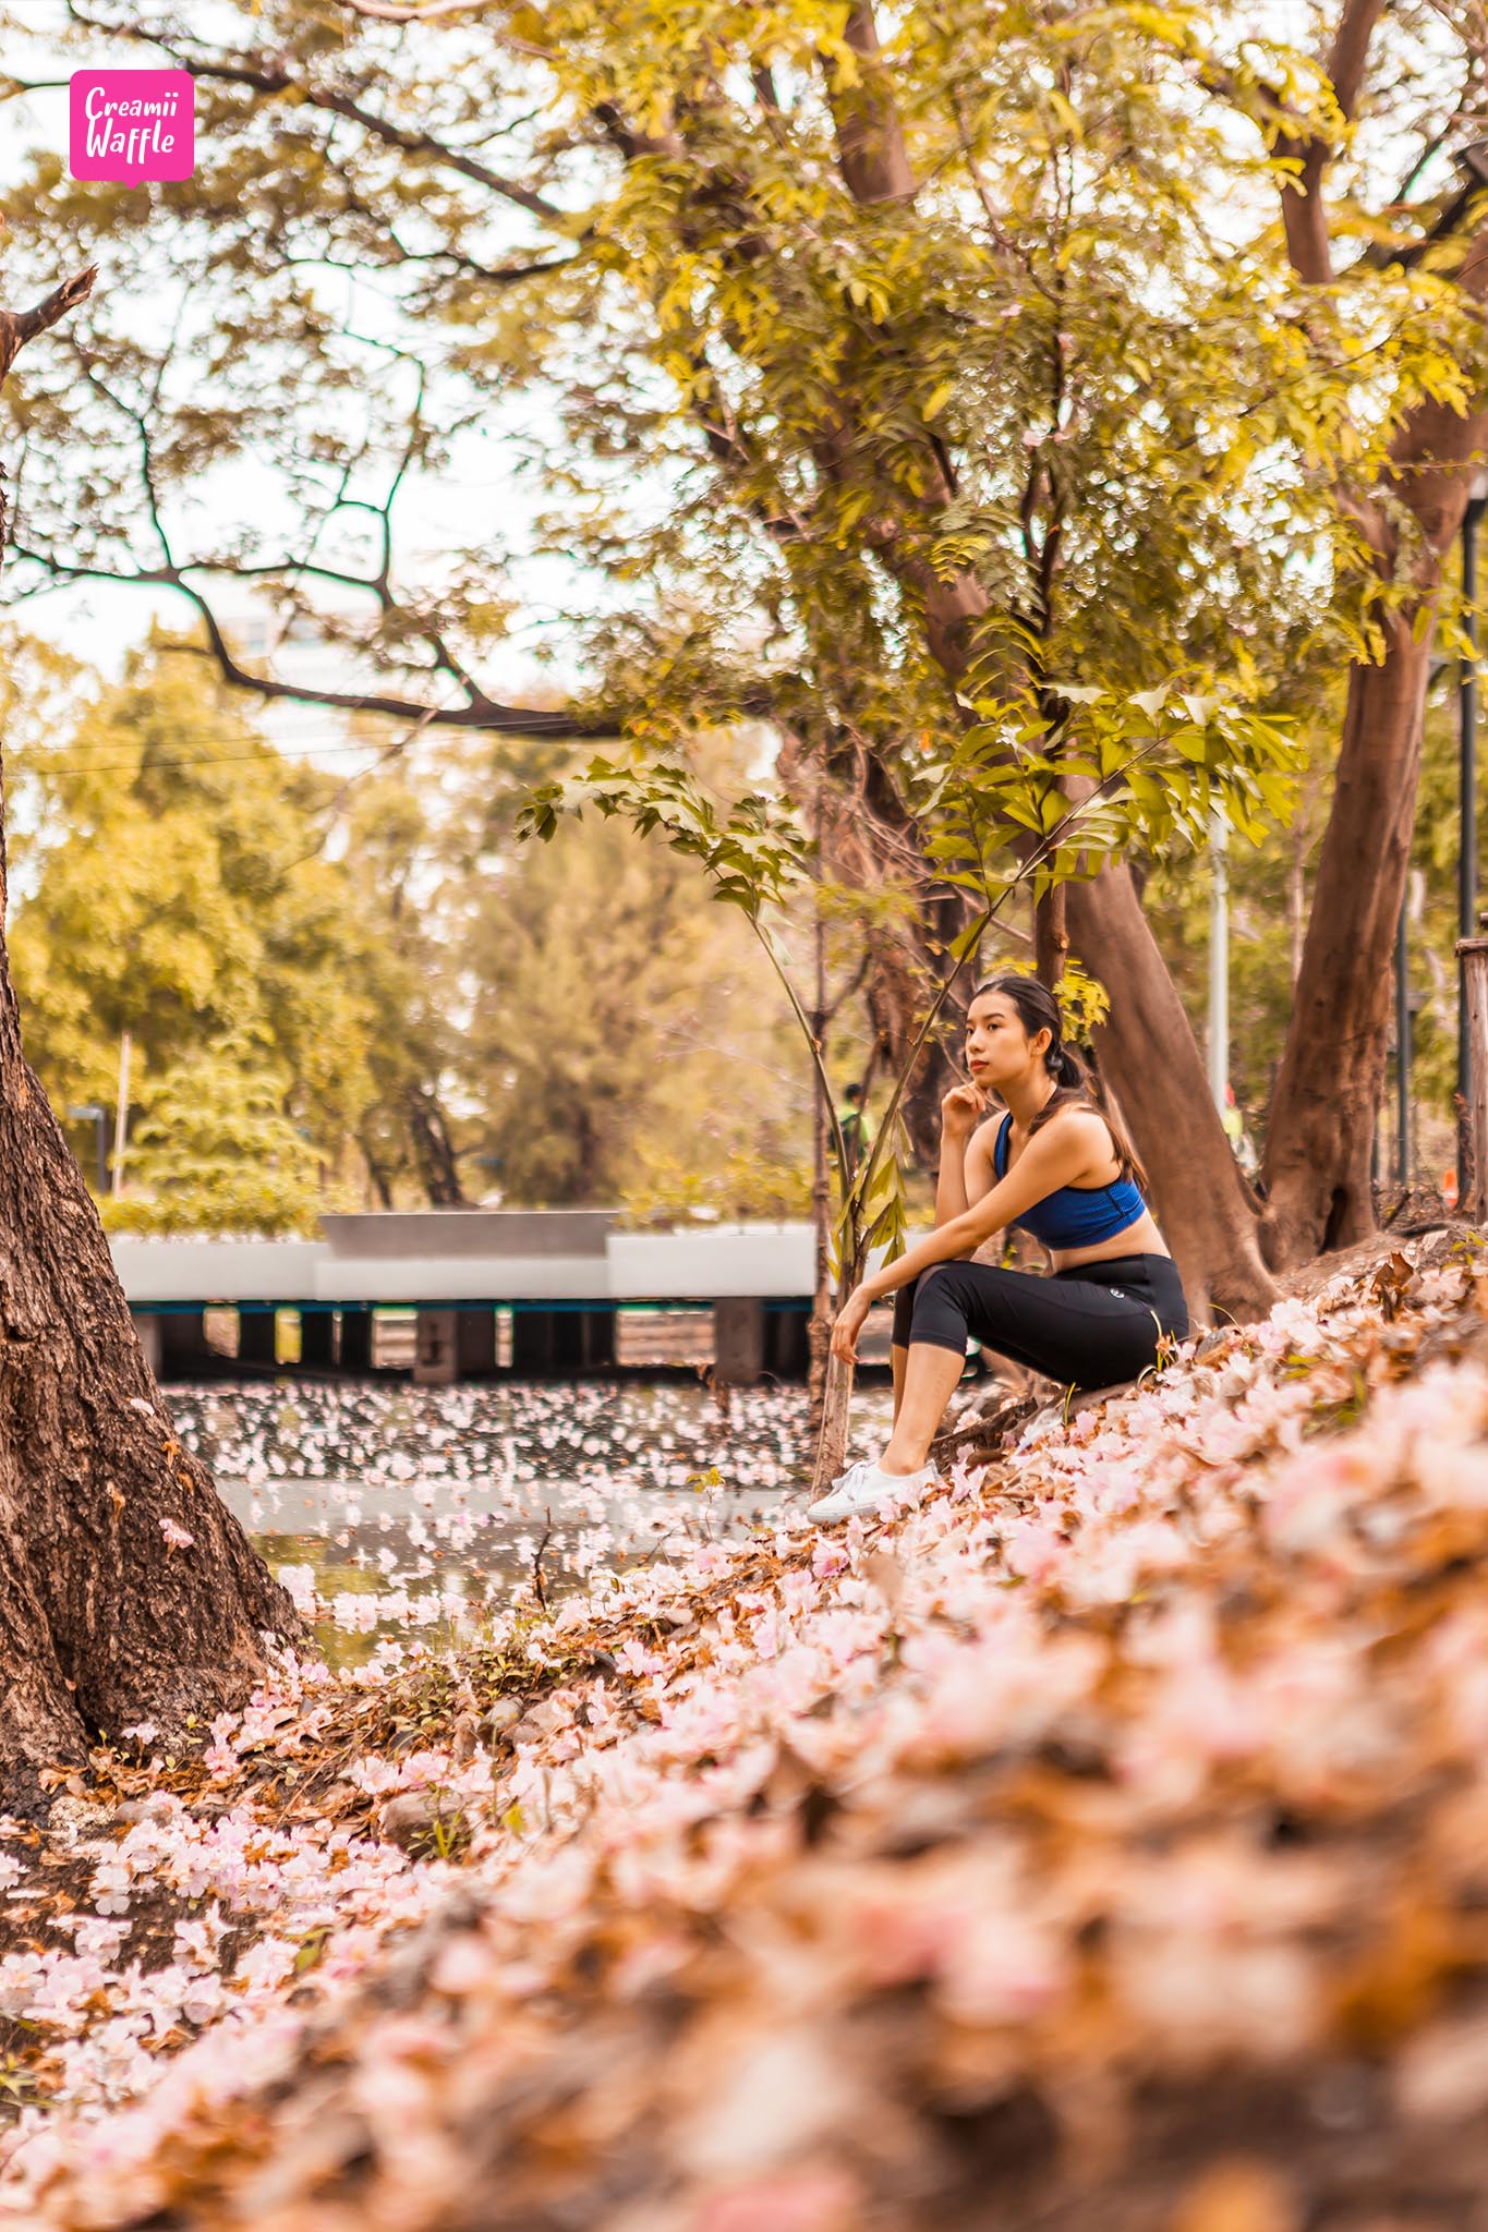
[[[460,1824],[446,1857],[283,1801],[397,1647],[279,1667],[212,1803],[158,1754],[127,1824],[65,1795],[71,1942],[0,1957],[40,2053],[0,2221],[1477,2221],[1488,1281],[1397,1272],[915,1511],[513,1607],[515,1725],[471,1676],[341,1777]],[[27,1870],[0,1824],[0,1897]],[[161,1893],[170,1957],[123,1962]]]

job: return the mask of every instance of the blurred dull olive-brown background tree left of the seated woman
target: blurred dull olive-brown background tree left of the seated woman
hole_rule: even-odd
[[[480,989],[464,1076],[504,1203],[801,1214],[810,1103],[790,1009],[741,906],[712,906],[692,868],[712,850],[738,886],[772,853],[747,799],[738,846],[709,835],[707,783],[732,772],[721,741],[700,772],[669,768],[631,833],[616,819],[625,781],[596,761],[518,810],[522,830],[551,833],[593,804],[560,844],[506,857],[493,839],[500,873],[468,886],[462,953]],[[770,884],[770,859],[761,873]]]

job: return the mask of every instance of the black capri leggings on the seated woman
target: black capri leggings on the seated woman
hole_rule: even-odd
[[[999,1263],[933,1263],[895,1288],[895,1346],[930,1341],[966,1355],[984,1348],[1078,1388],[1136,1379],[1158,1362],[1158,1333],[1189,1333],[1182,1281],[1171,1257],[1104,1257],[1051,1277]]]

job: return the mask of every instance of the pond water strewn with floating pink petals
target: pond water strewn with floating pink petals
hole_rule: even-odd
[[[364,1382],[174,1386],[183,1442],[306,1612],[332,1663],[468,1632],[542,1556],[549,1600],[596,1567],[747,1533],[805,1484],[803,1386]],[[850,1457],[888,1437],[859,1386]],[[544,1540],[547,1538],[547,1540]]]

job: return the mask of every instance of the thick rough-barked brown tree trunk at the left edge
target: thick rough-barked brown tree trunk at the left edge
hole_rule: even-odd
[[[0,312],[0,379],[91,283]],[[176,1437],[25,1060],[0,931],[0,1806],[40,1815],[38,1770],[85,1761],[98,1732],[152,1721],[170,1736],[241,1705],[265,1632],[299,1641],[303,1623]]]

